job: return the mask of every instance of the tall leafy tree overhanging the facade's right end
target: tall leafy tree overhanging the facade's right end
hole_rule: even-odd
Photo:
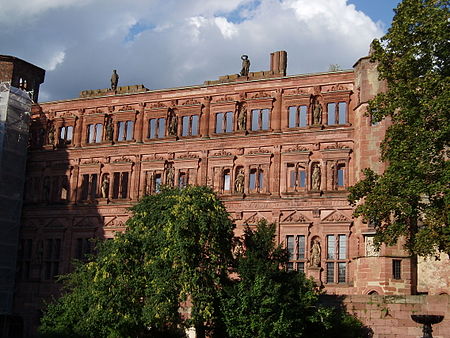
[[[355,216],[377,227],[376,243],[406,239],[411,253],[450,254],[449,1],[404,0],[391,28],[372,44],[387,91],[369,103],[373,120],[388,118],[382,143],[388,164],[350,188]]]

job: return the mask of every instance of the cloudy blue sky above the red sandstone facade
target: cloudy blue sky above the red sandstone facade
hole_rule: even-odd
[[[46,69],[40,100],[109,86],[202,84],[269,68],[288,52],[288,74],[351,68],[389,27],[393,0],[0,0],[0,54]]]

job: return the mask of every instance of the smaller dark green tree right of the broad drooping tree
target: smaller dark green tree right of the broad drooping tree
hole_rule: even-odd
[[[223,290],[229,337],[359,337],[361,324],[342,310],[318,304],[319,292],[303,273],[283,269],[288,252],[275,245],[275,224],[245,229],[238,248],[239,276]]]

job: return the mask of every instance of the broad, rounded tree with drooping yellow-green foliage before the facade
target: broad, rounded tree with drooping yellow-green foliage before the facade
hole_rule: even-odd
[[[234,225],[206,187],[163,188],[131,208],[127,230],[100,243],[91,262],[65,277],[40,332],[47,336],[165,337],[198,333],[220,318]],[[191,306],[190,315],[180,305]]]

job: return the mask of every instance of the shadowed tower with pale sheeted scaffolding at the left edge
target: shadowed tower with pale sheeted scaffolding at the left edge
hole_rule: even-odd
[[[12,313],[30,112],[45,71],[0,55],[0,336],[16,336]],[[19,329],[20,330],[20,329]],[[17,333],[17,332],[16,332]]]

